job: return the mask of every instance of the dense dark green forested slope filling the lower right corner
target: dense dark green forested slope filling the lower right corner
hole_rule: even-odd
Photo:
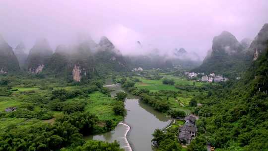
[[[199,135],[190,151],[210,142],[218,151],[268,149],[268,50],[237,82],[229,81],[207,95],[195,109]],[[204,115],[206,115],[204,117]]]

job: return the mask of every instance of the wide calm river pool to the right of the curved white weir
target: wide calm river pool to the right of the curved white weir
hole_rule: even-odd
[[[169,118],[137,99],[127,99],[125,104],[128,110],[125,122],[132,127],[129,138],[134,151],[152,151],[153,131],[167,126]]]

